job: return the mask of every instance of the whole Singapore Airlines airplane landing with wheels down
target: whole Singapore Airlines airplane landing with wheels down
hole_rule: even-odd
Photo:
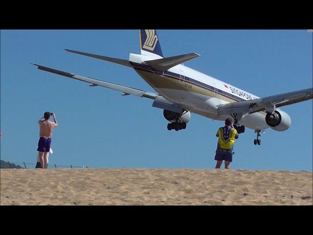
[[[133,68],[156,93],[31,64],[39,70],[87,82],[90,87],[102,86],[122,92],[122,95],[153,99],[152,106],[163,109],[163,116],[169,121],[169,131],[185,129],[191,113],[214,120],[232,117],[233,126],[239,134],[245,132],[245,127],[257,133],[257,139],[253,141],[255,145],[261,144],[260,133],[264,133],[265,129],[286,131],[291,126],[290,116],[280,107],[313,98],[313,88],[258,97],[183,65],[200,57],[197,53],[164,57],[155,29],[140,29],[139,39],[141,53],[130,53],[129,60],[65,50]]]

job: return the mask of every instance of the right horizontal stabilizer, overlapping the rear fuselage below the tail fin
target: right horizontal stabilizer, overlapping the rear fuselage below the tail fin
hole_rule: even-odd
[[[166,71],[168,69],[173,68],[174,66],[177,66],[186,61],[195,59],[199,56],[200,56],[199,54],[190,53],[190,54],[177,55],[177,56],[172,56],[172,57],[167,57],[167,58],[157,59],[157,60],[147,60],[144,62],[150,65],[153,69],[157,71]]]

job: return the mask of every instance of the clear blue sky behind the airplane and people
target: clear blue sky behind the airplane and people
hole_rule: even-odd
[[[127,67],[65,48],[128,59],[140,53],[138,30],[1,30],[1,160],[36,162],[38,119],[54,112],[49,161],[60,165],[214,168],[216,131],[224,123],[192,114],[187,129],[168,131],[152,100],[37,70],[29,63],[137,89],[154,90]],[[260,97],[311,88],[312,33],[307,30],[157,30],[165,57],[199,53],[185,66]],[[262,145],[246,129],[232,169],[312,171],[312,100],[282,110],[285,132],[267,129]]]

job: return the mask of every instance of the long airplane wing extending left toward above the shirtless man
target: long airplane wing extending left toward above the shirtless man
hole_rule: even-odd
[[[33,64],[33,63],[31,63],[31,64]],[[122,92],[122,95],[133,94],[133,95],[136,95],[139,97],[154,99],[155,101],[153,102],[152,106],[156,107],[156,108],[167,109],[167,110],[177,112],[177,113],[182,112],[181,107],[173,104],[172,102],[168,101],[167,99],[165,99],[163,96],[161,96],[159,94],[155,94],[155,93],[151,93],[151,92],[145,92],[145,91],[134,89],[131,87],[125,87],[125,86],[121,86],[121,85],[114,84],[111,82],[105,82],[105,81],[101,81],[101,80],[97,80],[97,79],[93,79],[93,78],[89,78],[89,77],[83,77],[83,76],[76,75],[73,73],[48,68],[48,67],[45,67],[42,65],[37,65],[37,64],[33,64],[33,65],[37,66],[39,70],[52,72],[52,73],[56,73],[56,74],[59,74],[62,76],[74,78],[76,80],[88,82],[90,87],[101,86],[101,87],[106,87],[106,88],[110,88],[110,89],[115,90],[115,91]]]

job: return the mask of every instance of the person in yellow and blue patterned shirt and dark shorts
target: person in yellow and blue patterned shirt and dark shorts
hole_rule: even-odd
[[[239,134],[232,125],[232,119],[225,120],[225,126],[220,127],[216,133],[219,138],[214,160],[217,161],[215,168],[221,168],[223,160],[225,161],[225,169],[230,169],[230,163],[233,159],[235,139],[238,139]]]

